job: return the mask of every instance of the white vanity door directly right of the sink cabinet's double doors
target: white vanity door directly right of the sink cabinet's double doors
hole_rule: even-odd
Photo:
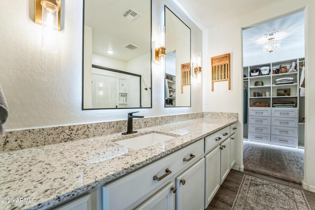
[[[221,150],[217,146],[205,156],[205,208],[220,188]]]

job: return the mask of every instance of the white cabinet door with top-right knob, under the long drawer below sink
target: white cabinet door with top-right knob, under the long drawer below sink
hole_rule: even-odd
[[[136,210],[175,210],[175,193],[175,184],[170,182]]]

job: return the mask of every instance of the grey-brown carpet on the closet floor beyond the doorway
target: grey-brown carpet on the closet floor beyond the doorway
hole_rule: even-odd
[[[244,169],[269,177],[301,184],[304,175],[304,150],[243,142]]]

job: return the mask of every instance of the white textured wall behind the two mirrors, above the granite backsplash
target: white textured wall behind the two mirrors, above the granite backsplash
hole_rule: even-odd
[[[32,21],[33,0],[0,4],[0,85],[9,106],[9,118],[4,124],[7,130],[122,120],[131,111],[146,117],[202,111],[200,88],[192,90],[191,108],[164,108],[163,72],[156,64],[152,109],[82,111],[82,0],[63,2],[63,29],[58,32],[56,54],[40,49],[41,26]],[[160,9],[160,3],[153,3],[153,12]],[[153,22],[161,18],[154,16]],[[195,54],[202,50],[202,33],[191,22],[188,25],[194,30]]]

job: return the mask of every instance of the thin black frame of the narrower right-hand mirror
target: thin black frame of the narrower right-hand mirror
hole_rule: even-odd
[[[192,78],[192,76],[191,76],[191,73],[192,73],[192,71],[191,71],[191,29],[189,28],[189,26],[186,24],[186,23],[184,23],[184,21],[182,21],[182,19],[180,19],[169,7],[167,7],[166,5],[164,5],[164,26],[165,26],[165,48],[167,49],[167,46],[166,46],[166,8],[175,16],[175,17],[177,17],[178,18],[178,20],[180,20],[188,29],[189,29],[189,36],[190,36],[190,40],[189,40],[189,57],[190,57],[190,59],[189,59],[189,63],[190,63],[190,81],[191,81],[191,78]],[[165,55],[166,56],[166,55]],[[166,60],[166,59],[165,59]],[[166,97],[166,95],[165,95],[165,86],[166,86],[166,84],[165,84],[165,77],[166,77],[166,63],[165,63],[165,70],[164,70],[164,101],[165,101],[165,97]],[[181,83],[182,83],[182,75],[180,75],[180,78],[181,78]],[[176,107],[191,107],[191,82],[190,82],[190,98],[189,98],[189,106],[166,106],[165,105],[165,103],[164,103],[164,108],[176,108]]]

